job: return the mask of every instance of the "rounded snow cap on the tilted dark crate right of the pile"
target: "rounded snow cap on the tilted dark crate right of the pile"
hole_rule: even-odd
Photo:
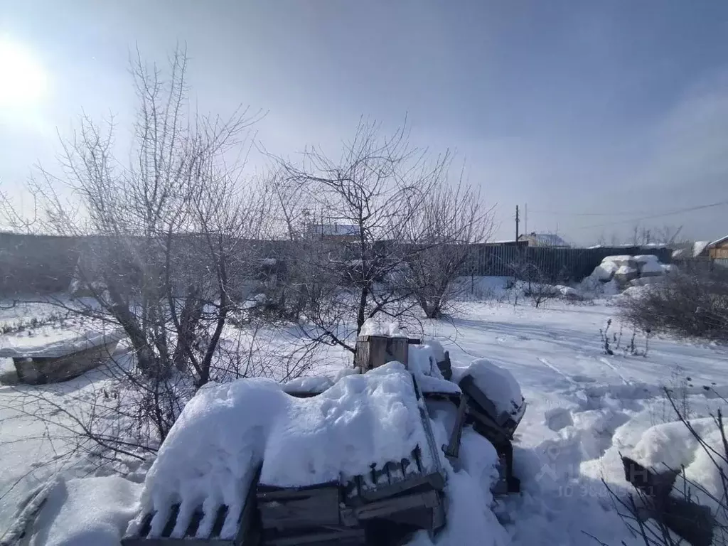
[[[453,367],[453,381],[459,383],[464,376],[472,376],[475,386],[494,403],[498,414],[505,411],[520,419],[518,412],[525,411],[526,406],[523,404],[521,386],[513,377],[513,373],[490,360],[479,358],[473,360],[467,367]]]

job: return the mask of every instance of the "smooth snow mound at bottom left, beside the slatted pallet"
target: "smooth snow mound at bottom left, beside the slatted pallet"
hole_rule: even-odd
[[[119,546],[140,493],[141,485],[116,476],[58,480],[30,546]]]

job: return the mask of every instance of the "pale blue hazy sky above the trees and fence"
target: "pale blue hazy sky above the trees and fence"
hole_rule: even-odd
[[[2,40],[45,81],[39,97],[0,91],[4,191],[52,159],[81,108],[124,120],[130,48],[162,58],[184,41],[200,108],[269,111],[269,151],[407,113],[414,140],[456,149],[498,204],[496,237],[525,203],[529,231],[574,242],[626,237],[640,218],[728,233],[727,204],[664,214],[728,202],[722,0],[0,0]]]

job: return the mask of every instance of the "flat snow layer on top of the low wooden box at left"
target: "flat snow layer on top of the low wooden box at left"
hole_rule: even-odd
[[[47,336],[0,336],[0,357],[63,357],[71,352],[92,349],[119,341],[124,337],[122,330],[87,330],[82,333],[58,330],[58,335]]]

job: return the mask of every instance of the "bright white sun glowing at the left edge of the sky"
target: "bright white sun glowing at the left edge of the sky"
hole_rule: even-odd
[[[32,106],[46,87],[46,73],[31,52],[0,36],[0,108]]]

